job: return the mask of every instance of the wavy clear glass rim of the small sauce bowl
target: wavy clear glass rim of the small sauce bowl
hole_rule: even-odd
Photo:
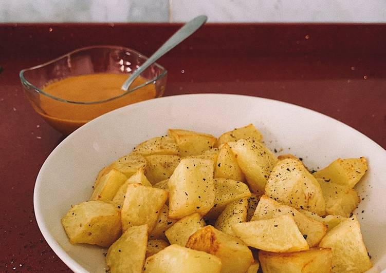
[[[45,63],[43,63],[43,64],[36,65],[36,66],[32,66],[32,67],[25,68],[25,69],[22,69],[22,70],[20,71],[20,73],[19,73],[20,80],[21,80],[23,86],[26,86],[28,89],[33,89],[35,92],[40,93],[40,94],[43,94],[43,95],[45,95],[45,96],[48,96],[48,97],[50,97],[50,98],[53,99],[53,100],[57,100],[57,101],[64,102],[64,103],[82,104],[82,105],[84,104],[84,105],[88,105],[88,104],[99,104],[99,103],[104,103],[104,102],[113,101],[113,100],[115,100],[115,99],[119,99],[119,97],[122,97],[122,96],[124,96],[124,95],[126,95],[126,94],[132,93],[132,92],[138,90],[139,88],[142,88],[142,87],[144,87],[144,86],[146,86],[146,85],[148,85],[148,84],[157,82],[158,80],[160,80],[160,79],[162,79],[164,76],[166,76],[167,73],[168,73],[168,70],[166,70],[163,66],[161,66],[161,65],[158,64],[158,63],[154,63],[154,65],[155,65],[156,67],[158,67],[159,69],[162,70],[162,73],[159,74],[158,76],[156,76],[156,77],[154,77],[153,79],[150,79],[149,81],[147,81],[147,82],[145,82],[145,83],[143,83],[143,84],[141,84],[141,85],[135,87],[134,89],[130,89],[130,90],[127,90],[127,91],[123,92],[121,95],[114,96],[114,97],[110,97],[110,98],[108,98],[108,99],[106,99],[106,100],[93,101],[93,102],[70,101],[70,100],[61,99],[60,97],[57,97],[57,96],[53,96],[53,95],[51,95],[51,94],[49,94],[49,93],[44,92],[42,89],[40,89],[40,88],[34,86],[34,85],[33,85],[32,83],[30,83],[30,82],[26,79],[26,77],[24,76],[24,73],[25,73],[26,71],[31,71],[31,70],[34,70],[34,69],[39,69],[39,68],[42,68],[42,67],[47,66],[47,65],[49,65],[49,64],[52,64],[52,63],[54,63],[54,62],[57,62],[57,61],[59,61],[59,60],[61,60],[61,59],[64,59],[65,57],[68,57],[68,56],[70,56],[70,55],[72,55],[72,54],[74,54],[74,53],[81,52],[81,51],[87,51],[87,50],[95,49],[95,48],[108,48],[108,49],[119,49],[119,50],[124,50],[124,51],[128,51],[128,52],[130,52],[130,53],[134,53],[134,54],[138,55],[140,58],[144,59],[145,61],[149,59],[149,57],[143,55],[142,53],[140,53],[140,52],[138,52],[138,51],[136,51],[136,50],[134,50],[134,49],[128,48],[128,47],[112,46],[112,45],[87,46],[87,47],[82,47],[82,48],[78,48],[78,49],[72,50],[72,51],[70,51],[70,52],[68,52],[68,53],[65,53],[65,54],[63,54],[63,55],[61,55],[61,56],[59,56],[59,57],[57,57],[57,58],[55,58],[55,59],[52,59],[52,60],[50,60],[50,61],[48,61],[48,62],[45,62]]]

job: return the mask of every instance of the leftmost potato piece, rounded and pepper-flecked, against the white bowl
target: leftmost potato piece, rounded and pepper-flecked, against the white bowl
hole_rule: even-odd
[[[116,204],[86,201],[73,206],[62,218],[71,244],[86,243],[107,247],[121,232],[121,213]]]

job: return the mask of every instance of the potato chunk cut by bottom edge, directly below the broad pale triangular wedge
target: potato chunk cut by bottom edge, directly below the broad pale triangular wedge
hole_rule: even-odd
[[[259,252],[264,273],[329,273],[332,256],[330,248],[310,248],[292,253]]]

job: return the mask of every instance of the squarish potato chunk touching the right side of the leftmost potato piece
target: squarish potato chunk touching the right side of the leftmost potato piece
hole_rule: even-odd
[[[150,233],[168,198],[168,192],[135,183],[127,185],[125,196],[121,211],[123,231],[132,226],[148,224]]]

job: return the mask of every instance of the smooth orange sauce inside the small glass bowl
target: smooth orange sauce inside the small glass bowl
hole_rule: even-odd
[[[121,86],[127,74],[88,74],[72,76],[49,83],[43,91],[60,99],[75,102],[96,102],[121,95]],[[148,80],[137,77],[130,89],[144,84]],[[54,128],[69,134],[86,122],[116,108],[153,99],[156,96],[154,84],[146,85],[118,99],[97,104],[73,104],[40,95],[40,105],[32,106]]]

